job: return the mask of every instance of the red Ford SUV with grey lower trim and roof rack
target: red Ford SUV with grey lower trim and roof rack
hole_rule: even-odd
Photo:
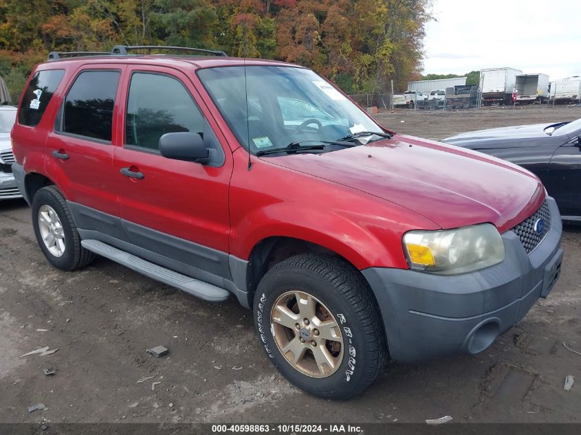
[[[53,53],[21,97],[12,169],[52,265],[233,294],[278,370],[336,399],[387,357],[482,352],[558,278],[527,170],[384,129],[307,68],[133,48]]]

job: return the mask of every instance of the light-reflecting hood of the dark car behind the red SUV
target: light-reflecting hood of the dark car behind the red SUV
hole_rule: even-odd
[[[551,136],[545,133],[547,127],[562,123],[551,122],[549,124],[518,125],[469,131],[442,140],[446,144],[463,146],[470,149],[494,149],[514,148],[519,146],[539,146],[551,140]]]

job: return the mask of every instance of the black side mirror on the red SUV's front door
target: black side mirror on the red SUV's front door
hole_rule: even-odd
[[[160,137],[160,153],[168,159],[210,163],[210,150],[204,146],[204,140],[198,133],[189,131],[166,133]]]

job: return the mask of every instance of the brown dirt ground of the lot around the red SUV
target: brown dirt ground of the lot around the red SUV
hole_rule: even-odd
[[[378,118],[441,139],[580,116],[577,108],[533,107]],[[564,232],[563,273],[549,298],[485,353],[389,364],[361,397],[339,403],[289,386],[234,298],[202,302],[102,258],[82,271],[53,269],[23,201],[0,203],[0,236],[0,422],[423,422],[448,414],[460,422],[581,421],[581,356],[562,346],[581,351],[579,227]],[[146,348],[157,344],[170,354],[149,357]],[[21,357],[45,346],[58,351]],[[43,375],[45,368],[56,374]],[[569,392],[566,375],[576,381]],[[47,410],[29,414],[39,402]]]

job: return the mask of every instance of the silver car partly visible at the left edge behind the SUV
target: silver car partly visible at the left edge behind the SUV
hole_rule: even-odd
[[[0,200],[21,198],[14,175],[12,175],[12,144],[10,144],[10,130],[16,120],[16,107],[0,106]]]

